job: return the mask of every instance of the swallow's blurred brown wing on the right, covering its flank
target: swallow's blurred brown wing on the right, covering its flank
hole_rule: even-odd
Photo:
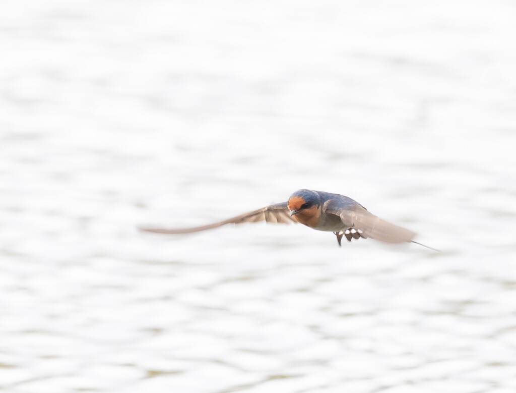
[[[356,229],[362,238],[371,238],[387,243],[412,242],[416,233],[388,223],[369,213],[360,203],[331,199],[325,204],[325,212],[341,217],[349,229]],[[348,239],[350,240],[350,239]]]

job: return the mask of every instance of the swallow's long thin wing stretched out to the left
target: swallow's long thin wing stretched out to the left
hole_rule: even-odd
[[[218,223],[203,225],[201,227],[183,228],[183,229],[165,229],[165,228],[145,228],[140,227],[141,230],[155,233],[191,233],[205,231],[206,229],[213,229],[221,227],[226,224],[240,224],[240,223],[257,223],[259,221],[266,221],[267,223],[289,224],[295,222],[288,211],[287,202],[278,203],[277,205],[267,206],[262,209],[254,210],[249,213],[240,214],[239,216],[225,219]]]

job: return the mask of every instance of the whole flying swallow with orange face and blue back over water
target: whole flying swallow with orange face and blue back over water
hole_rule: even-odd
[[[264,220],[267,223],[278,224],[294,222],[319,231],[333,232],[339,246],[342,238],[346,237],[349,242],[352,239],[371,238],[386,243],[416,243],[433,249],[415,242],[415,232],[369,213],[356,200],[340,194],[313,190],[298,190],[287,202],[266,206],[214,224],[182,229],[140,229],[154,233],[181,234],[205,231],[227,224],[256,223]]]

